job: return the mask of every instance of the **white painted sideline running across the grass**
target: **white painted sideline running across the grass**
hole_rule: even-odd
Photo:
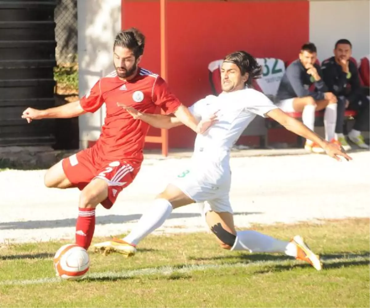
[[[293,260],[293,259],[292,259]],[[339,261],[367,261],[370,260],[370,257],[345,257],[345,258],[335,258],[335,259],[325,259],[322,258],[324,264],[333,264]],[[152,267],[152,268],[140,268],[138,270],[129,270],[129,271],[121,271],[121,272],[102,272],[102,273],[91,273],[87,274],[85,278],[94,279],[101,279],[101,278],[129,278],[129,277],[139,277],[139,276],[149,276],[160,274],[163,276],[168,276],[173,273],[190,273],[192,271],[204,271],[204,270],[212,270],[212,269],[222,269],[222,268],[238,268],[238,267],[250,267],[253,265],[281,265],[285,263],[289,263],[290,260],[286,261],[256,261],[256,262],[249,262],[249,263],[234,263],[234,264],[205,264],[205,265],[184,265],[180,268],[175,266],[164,266],[164,267]],[[4,280],[0,281],[0,285],[26,285],[26,284],[43,284],[43,283],[55,283],[63,281],[61,278],[40,278],[40,279],[31,279],[31,280]]]

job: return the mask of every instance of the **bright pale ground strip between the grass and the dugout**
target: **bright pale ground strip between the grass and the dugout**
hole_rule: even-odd
[[[134,183],[111,210],[97,209],[96,236],[125,233],[151,206],[155,194],[186,168],[190,152],[145,155]],[[336,162],[302,149],[233,151],[231,202],[235,224],[295,223],[370,217],[369,152]],[[0,244],[74,238],[77,189],[47,189],[45,170],[0,172]],[[176,209],[157,234],[204,231],[199,206]],[[294,234],[292,234],[294,235]]]

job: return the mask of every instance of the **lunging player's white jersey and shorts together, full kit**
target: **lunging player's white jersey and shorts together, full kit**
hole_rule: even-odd
[[[207,201],[210,210],[232,213],[230,149],[256,115],[266,116],[276,108],[264,94],[249,88],[196,102],[189,108],[196,118],[218,111],[218,121],[196,136],[190,166],[172,184],[196,202]]]

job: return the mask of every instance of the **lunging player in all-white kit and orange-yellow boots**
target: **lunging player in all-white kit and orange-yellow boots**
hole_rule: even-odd
[[[235,231],[229,200],[230,149],[256,115],[275,119],[290,131],[318,143],[329,156],[337,160],[340,160],[338,156],[351,159],[339,146],[328,143],[301,122],[290,118],[264,94],[248,88],[252,79],[259,78],[260,75],[261,67],[245,51],[225,57],[221,68],[223,92],[218,97],[209,95],[189,108],[194,116],[205,123],[211,123],[209,119],[216,121],[205,133],[196,136],[194,154],[188,169],[157,196],[127,237],[95,244],[95,251],[134,255],[139,241],[160,227],[173,209],[203,202],[206,222],[222,248],[285,253],[309,262],[317,270],[321,269],[319,257],[307,247],[300,236],[293,237],[291,241],[281,241],[256,231]],[[134,118],[158,128],[180,125],[176,118],[142,114],[135,109],[124,108]]]

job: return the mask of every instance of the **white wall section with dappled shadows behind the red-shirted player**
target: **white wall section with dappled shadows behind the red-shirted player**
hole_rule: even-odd
[[[78,65],[80,98],[104,75],[114,70],[113,43],[121,30],[121,0],[78,0]],[[97,140],[104,123],[105,105],[80,116],[80,148]]]

